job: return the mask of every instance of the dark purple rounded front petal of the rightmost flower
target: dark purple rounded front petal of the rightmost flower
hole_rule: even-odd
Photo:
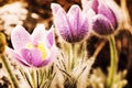
[[[101,14],[94,18],[92,30],[100,35],[111,34],[114,31],[110,21]]]

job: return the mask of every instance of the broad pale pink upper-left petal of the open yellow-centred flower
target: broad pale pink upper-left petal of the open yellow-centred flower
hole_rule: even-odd
[[[11,33],[11,42],[14,50],[20,52],[21,48],[31,42],[31,36],[23,26],[16,25]]]

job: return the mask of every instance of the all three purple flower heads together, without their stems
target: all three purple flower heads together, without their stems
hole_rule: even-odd
[[[98,34],[113,33],[118,28],[117,14],[103,0],[89,0],[81,10],[74,4],[66,11],[57,3],[52,3],[55,29],[68,43],[82,42],[87,38],[90,26]],[[89,19],[88,11],[94,12]],[[90,23],[91,22],[91,23]],[[53,30],[48,32],[43,25],[37,26],[30,35],[18,25],[11,33],[13,48],[7,48],[19,62],[26,66],[42,67],[54,57],[55,41]]]

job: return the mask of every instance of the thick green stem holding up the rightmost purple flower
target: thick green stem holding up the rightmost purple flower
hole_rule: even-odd
[[[117,67],[118,67],[118,54],[117,54],[117,48],[116,48],[116,41],[114,37],[111,35],[109,37],[109,43],[110,43],[110,70],[108,75],[108,82],[107,86],[108,88],[113,88],[113,80],[114,80],[114,75],[117,73]]]

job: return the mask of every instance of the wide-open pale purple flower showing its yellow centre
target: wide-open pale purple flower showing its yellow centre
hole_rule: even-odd
[[[7,47],[7,52],[29,67],[45,66],[56,54],[53,31],[45,31],[44,25],[35,28],[31,35],[23,26],[16,25],[11,33],[11,42],[14,50]]]

